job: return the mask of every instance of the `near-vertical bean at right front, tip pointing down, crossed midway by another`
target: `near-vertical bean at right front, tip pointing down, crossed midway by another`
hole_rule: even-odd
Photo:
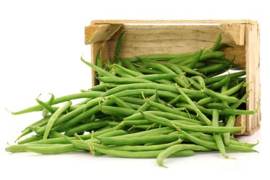
[[[212,115],[213,127],[218,127],[218,119],[219,119],[218,111],[213,110],[213,115]],[[225,157],[226,159],[229,158],[229,156],[226,154],[225,146],[223,144],[221,134],[214,133],[213,136],[214,136],[215,142],[217,143],[217,148],[220,150],[220,153],[222,154],[222,156]]]

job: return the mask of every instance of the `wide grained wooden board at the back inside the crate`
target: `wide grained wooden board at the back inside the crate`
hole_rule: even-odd
[[[220,26],[140,26],[124,25],[124,42],[119,56],[130,58],[136,55],[161,53],[184,53],[198,51],[201,47],[211,47],[218,34]],[[119,33],[109,41],[109,58],[114,58],[114,50]],[[235,45],[234,41],[223,33],[222,42],[229,43],[234,48],[227,48],[227,58],[237,55],[234,63],[245,66],[244,46]]]

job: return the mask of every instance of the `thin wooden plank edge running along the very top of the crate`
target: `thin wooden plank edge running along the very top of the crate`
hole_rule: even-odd
[[[92,24],[101,23],[242,23],[255,24],[257,21],[239,20],[93,20]]]

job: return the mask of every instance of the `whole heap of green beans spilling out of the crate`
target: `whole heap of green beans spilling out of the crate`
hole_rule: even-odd
[[[13,112],[20,115],[41,111],[43,118],[23,129],[21,137],[33,134],[7,152],[58,154],[90,152],[96,156],[157,158],[193,156],[198,151],[257,152],[256,144],[239,142],[232,132],[237,115],[253,115],[244,110],[245,70],[227,60],[220,43],[198,52],[141,55],[119,58],[124,33],[114,55],[94,69],[99,85],[80,93]],[[82,99],[72,105],[72,100]],[[59,103],[63,102],[60,106]]]

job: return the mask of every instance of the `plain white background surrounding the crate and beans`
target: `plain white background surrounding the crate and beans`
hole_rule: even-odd
[[[176,3],[178,2],[178,3]],[[264,1],[1,1],[0,179],[266,179],[269,162],[269,6]],[[40,94],[79,92],[91,85],[84,27],[95,19],[254,19],[261,24],[261,130],[251,137],[257,153],[166,159],[117,159],[90,154],[9,154],[22,127],[39,114],[11,116],[35,104]],[[87,58],[87,60],[90,60]],[[46,96],[43,96],[45,98]]]

